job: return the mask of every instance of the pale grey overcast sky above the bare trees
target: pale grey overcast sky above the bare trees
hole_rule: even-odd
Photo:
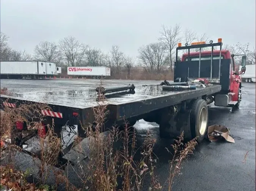
[[[219,37],[225,44],[255,45],[255,0],[1,0],[0,29],[14,49],[33,53],[41,40],[72,35],[108,51],[131,56],[155,42],[161,25]]]

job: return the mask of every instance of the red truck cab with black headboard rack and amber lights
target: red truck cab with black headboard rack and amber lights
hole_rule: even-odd
[[[220,50],[214,50],[215,46],[220,46]],[[176,49],[176,62],[174,63],[174,81],[188,82],[199,80],[204,83],[221,85],[221,92],[215,96],[215,105],[239,106],[241,96],[241,74],[245,72],[246,57],[242,55],[241,71],[236,70],[234,54],[229,50],[222,50],[222,39],[218,43],[195,42],[191,45],[181,46]],[[211,47],[211,51],[204,51],[204,48]],[[192,52],[193,49],[199,49]],[[178,50],[187,49],[187,53],[182,54],[178,59]],[[223,102],[223,99],[225,100]],[[217,102],[217,103],[216,103]]]

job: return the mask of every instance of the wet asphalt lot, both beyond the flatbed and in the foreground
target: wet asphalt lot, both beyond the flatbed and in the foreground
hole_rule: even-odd
[[[86,82],[85,82],[86,81]],[[42,91],[51,89],[74,89],[91,86],[99,80],[1,80],[1,88],[7,87],[14,91]],[[157,81],[142,80],[105,80],[109,85],[124,85],[129,83],[150,85],[159,84]],[[182,174],[174,180],[174,191],[254,191],[255,188],[255,83],[243,83],[242,102],[238,110],[209,106],[209,125],[225,125],[230,129],[235,143],[215,142],[205,140],[196,146],[193,155],[182,165]],[[144,120],[134,125],[137,130],[137,143],[140,146],[148,129],[156,139],[154,153],[158,162],[156,174],[163,190],[167,190],[166,179],[169,174],[170,154],[165,148],[170,148],[173,140],[160,139],[159,126]],[[248,153],[246,155],[246,153]],[[20,169],[34,168],[31,157],[17,154],[17,165]],[[28,162],[31,161],[31,162]],[[36,173],[35,169],[35,173]],[[53,177],[52,177],[53,179]],[[75,177],[71,177],[74,181]],[[49,180],[49,183],[52,180]],[[74,181],[75,183],[76,181]],[[147,184],[147,180],[145,181]],[[147,189],[145,189],[147,190]]]

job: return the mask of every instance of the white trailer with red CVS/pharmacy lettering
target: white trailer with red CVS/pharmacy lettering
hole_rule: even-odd
[[[75,66],[68,67],[67,71],[68,75],[92,77],[93,79],[110,76],[110,68],[105,66]]]

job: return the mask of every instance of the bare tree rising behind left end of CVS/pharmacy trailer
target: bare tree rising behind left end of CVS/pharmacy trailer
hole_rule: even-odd
[[[83,45],[72,36],[61,39],[59,45],[68,65],[80,66],[82,64],[87,46]]]

